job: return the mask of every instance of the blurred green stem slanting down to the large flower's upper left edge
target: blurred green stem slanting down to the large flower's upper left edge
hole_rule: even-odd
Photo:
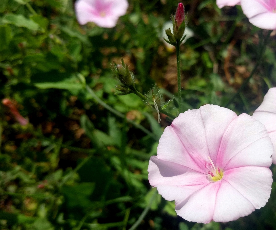
[[[133,126],[135,126],[137,129],[142,130],[144,133],[150,135],[153,139],[155,140],[159,140],[159,138],[154,135],[153,133],[151,133],[150,131],[148,131],[147,129],[145,129],[143,126],[141,126],[140,124],[137,124],[135,121],[127,119],[126,116],[124,116],[124,114],[122,114],[121,112],[119,112],[118,110],[113,109],[111,106],[109,106],[108,104],[106,104],[104,101],[102,101],[95,93],[94,91],[87,85],[86,86],[87,91],[91,94],[91,96],[97,101],[97,103],[99,103],[100,105],[102,105],[104,108],[106,108],[107,110],[109,110],[110,112],[114,113],[116,116],[126,119],[127,122],[133,124]]]

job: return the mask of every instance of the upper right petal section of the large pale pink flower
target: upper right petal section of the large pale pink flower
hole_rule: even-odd
[[[217,164],[224,168],[233,159],[233,165],[258,165],[269,166],[273,152],[272,143],[265,140],[268,133],[263,124],[247,114],[241,114],[235,118],[223,135],[221,146],[218,151]],[[262,146],[262,151],[250,152],[254,142]],[[249,147],[249,148],[248,148]],[[246,156],[242,154],[246,153]],[[254,158],[254,159],[253,159]],[[258,163],[259,159],[259,163]],[[240,162],[238,162],[240,160]],[[231,164],[230,164],[231,165]]]

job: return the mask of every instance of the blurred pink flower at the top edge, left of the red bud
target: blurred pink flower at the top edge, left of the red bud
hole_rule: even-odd
[[[81,25],[95,22],[100,27],[116,26],[120,16],[125,15],[127,0],[78,0],[75,3],[76,17]]]

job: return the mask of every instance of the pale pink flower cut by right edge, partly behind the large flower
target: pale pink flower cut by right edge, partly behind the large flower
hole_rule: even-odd
[[[269,89],[264,96],[264,101],[253,113],[253,117],[267,128],[274,146],[272,163],[276,164],[276,88]]]

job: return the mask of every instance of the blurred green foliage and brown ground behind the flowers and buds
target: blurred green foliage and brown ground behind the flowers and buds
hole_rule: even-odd
[[[166,100],[174,98],[176,55],[161,34],[178,1],[129,3],[117,26],[105,29],[80,26],[72,0],[1,0],[0,97],[14,100],[30,123],[21,126],[1,105],[0,228],[123,230],[150,209],[137,229],[276,229],[275,183],[264,208],[206,225],[183,220],[174,202],[151,189],[148,161],[170,122],[162,115],[158,124],[156,111],[134,94],[114,95],[111,64],[123,57],[140,91],[156,82]],[[184,108],[226,106],[258,61],[267,31],[239,6],[183,3],[195,33],[181,47]],[[252,114],[276,85],[275,35],[256,74],[227,105],[237,114]],[[174,103],[168,108],[177,115]]]

